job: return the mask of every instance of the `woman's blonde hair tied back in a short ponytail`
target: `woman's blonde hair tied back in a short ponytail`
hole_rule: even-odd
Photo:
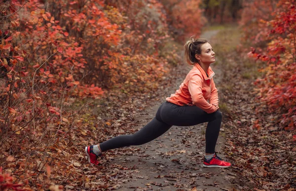
[[[185,59],[189,65],[199,64],[199,60],[195,58],[195,54],[201,54],[201,46],[207,42],[208,40],[204,38],[194,39],[194,36],[191,36],[185,43]]]

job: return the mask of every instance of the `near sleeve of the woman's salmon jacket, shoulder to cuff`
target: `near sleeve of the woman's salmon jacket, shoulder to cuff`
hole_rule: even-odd
[[[217,111],[216,107],[209,104],[202,95],[202,77],[194,74],[188,81],[188,90],[191,95],[193,105],[199,107],[208,114]]]

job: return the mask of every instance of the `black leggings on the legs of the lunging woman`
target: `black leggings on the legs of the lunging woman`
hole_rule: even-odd
[[[164,134],[173,125],[193,126],[208,122],[206,129],[206,153],[215,153],[220,132],[222,114],[218,110],[207,114],[196,106],[178,106],[164,102],[158,108],[156,116],[142,129],[132,135],[120,135],[100,144],[102,152],[111,149],[142,145]]]

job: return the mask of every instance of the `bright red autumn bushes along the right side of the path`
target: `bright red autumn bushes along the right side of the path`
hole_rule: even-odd
[[[252,2],[253,3],[253,2]],[[250,3],[251,4],[251,3]],[[249,5],[250,5],[249,4]],[[255,18],[243,17],[246,38],[253,41],[251,57],[266,63],[258,79],[258,98],[268,105],[282,128],[296,128],[296,1],[255,1]],[[245,10],[245,15],[251,11]],[[264,14],[263,14],[264,13]],[[245,20],[244,20],[245,19]],[[266,46],[264,46],[266,44]]]

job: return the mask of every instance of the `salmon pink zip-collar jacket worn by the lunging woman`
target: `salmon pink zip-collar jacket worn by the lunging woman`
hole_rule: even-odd
[[[195,105],[208,114],[216,112],[212,104],[218,104],[218,90],[215,86],[212,68],[208,69],[208,76],[201,66],[196,63],[185,77],[180,88],[166,101],[179,106]]]

